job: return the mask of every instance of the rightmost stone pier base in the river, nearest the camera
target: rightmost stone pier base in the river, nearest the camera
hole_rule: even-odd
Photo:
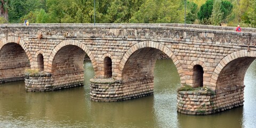
[[[188,115],[208,115],[243,106],[244,85],[218,91],[178,91],[177,111]]]

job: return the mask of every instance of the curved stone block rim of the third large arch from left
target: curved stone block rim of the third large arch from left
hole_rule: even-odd
[[[174,53],[169,49],[169,47],[164,46],[161,43],[156,43],[156,42],[151,42],[151,41],[140,42],[140,43],[137,43],[137,44],[133,45],[132,47],[130,47],[130,49],[124,54],[124,56],[119,64],[119,72],[118,72],[119,75],[118,76],[122,76],[122,71],[124,69],[125,63],[131,57],[131,55],[135,51],[138,51],[139,49],[142,49],[145,47],[152,47],[157,50],[160,50],[160,51],[164,52],[170,59],[172,59],[172,61],[174,62],[174,65],[177,68],[178,73],[181,77],[181,84],[185,84],[185,75],[183,74],[183,69],[182,69],[181,64],[180,64],[178,58],[176,57],[176,55],[174,55]]]

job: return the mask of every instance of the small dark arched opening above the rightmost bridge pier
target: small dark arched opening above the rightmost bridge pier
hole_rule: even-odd
[[[201,65],[195,65],[193,67],[193,87],[202,87],[203,86],[203,75],[204,70]]]

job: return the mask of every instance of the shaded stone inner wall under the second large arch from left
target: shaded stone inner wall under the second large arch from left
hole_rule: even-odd
[[[61,47],[52,62],[53,86],[62,88],[83,85],[85,51],[76,45]]]

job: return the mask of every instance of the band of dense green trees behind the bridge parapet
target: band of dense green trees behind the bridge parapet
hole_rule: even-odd
[[[184,2],[95,0],[95,17],[97,23],[183,23]],[[186,23],[256,27],[255,0],[186,2]],[[0,23],[93,23],[94,0],[0,0],[0,17]]]

